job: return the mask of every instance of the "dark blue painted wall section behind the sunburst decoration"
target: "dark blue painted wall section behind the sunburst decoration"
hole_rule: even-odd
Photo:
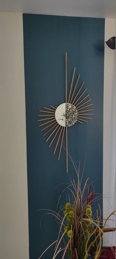
[[[104,19],[23,15],[26,84],[27,161],[29,197],[29,255],[37,259],[55,240],[55,219],[39,209],[55,210],[61,182],[75,177],[69,161],[65,172],[65,142],[61,160],[53,155],[37,123],[39,109],[65,100],[65,52],[68,53],[68,91],[73,68],[81,73],[94,104],[94,119],[68,130],[68,148],[81,170],[86,157],[84,179],[90,177],[102,193],[103,176],[103,84]],[[60,187],[61,190],[61,187]],[[62,204],[63,205],[63,204]],[[41,219],[42,217],[42,219]],[[41,219],[41,226],[40,226]],[[44,259],[52,258],[50,250]]]

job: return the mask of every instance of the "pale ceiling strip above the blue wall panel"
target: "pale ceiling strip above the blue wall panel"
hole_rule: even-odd
[[[0,11],[116,18],[116,0],[0,0]]]

